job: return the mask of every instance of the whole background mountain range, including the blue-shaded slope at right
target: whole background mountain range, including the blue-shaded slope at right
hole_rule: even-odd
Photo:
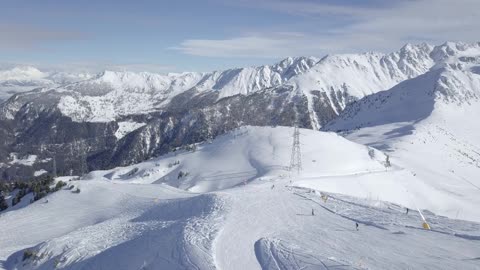
[[[345,131],[419,103],[387,121],[421,120],[437,99],[478,99],[479,57],[479,43],[447,42],[206,73],[3,71],[7,92],[35,89],[0,104],[1,178],[51,171],[54,159],[60,174],[128,165],[242,125]]]

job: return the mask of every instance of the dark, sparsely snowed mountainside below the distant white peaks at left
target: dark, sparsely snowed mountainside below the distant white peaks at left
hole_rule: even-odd
[[[109,122],[77,122],[54,106],[44,109],[37,103],[26,103],[14,119],[2,120],[5,124],[0,132],[5,136],[0,139],[0,151],[7,157],[0,168],[2,178],[28,178],[40,168],[51,170],[54,156],[59,174],[127,165],[242,125],[288,126],[297,117],[301,126],[311,128],[306,99],[292,95],[290,89],[269,89],[219,100],[216,91],[191,96],[192,92],[195,90],[174,97],[162,111]],[[116,131],[123,122],[144,125],[118,138]],[[14,165],[9,163],[9,153],[20,157],[32,154],[48,162]]]

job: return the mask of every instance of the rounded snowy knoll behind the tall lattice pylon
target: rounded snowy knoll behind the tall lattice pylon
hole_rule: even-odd
[[[284,175],[289,166],[291,131],[287,127],[240,128],[216,138],[213,143],[201,144],[194,152],[180,151],[129,167],[95,171],[85,178],[166,183],[192,192],[231,188],[254,179]],[[303,150],[305,177],[318,176],[319,172],[350,175],[385,171],[383,153],[354,144],[335,133],[303,130],[302,142],[306,145]],[[340,159],[342,163],[338,162]],[[186,175],[180,177],[181,174]]]

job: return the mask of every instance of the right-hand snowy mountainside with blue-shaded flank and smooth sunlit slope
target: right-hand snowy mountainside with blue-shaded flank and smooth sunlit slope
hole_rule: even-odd
[[[388,151],[422,185],[476,200],[480,126],[472,116],[480,113],[480,46],[447,43],[433,54],[444,64],[352,104],[325,130]],[[463,207],[435,203],[446,207],[445,215],[468,216]]]

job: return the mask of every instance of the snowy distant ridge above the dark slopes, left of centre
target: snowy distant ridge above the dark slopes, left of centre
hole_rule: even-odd
[[[220,72],[160,75],[105,71],[97,77],[56,89],[60,112],[78,122],[109,122],[160,111],[175,96],[217,92],[217,99],[248,95],[279,86],[313,66],[316,58],[287,58],[275,65]],[[48,89],[45,89],[48,90]],[[141,106],[138,106],[141,104]]]

